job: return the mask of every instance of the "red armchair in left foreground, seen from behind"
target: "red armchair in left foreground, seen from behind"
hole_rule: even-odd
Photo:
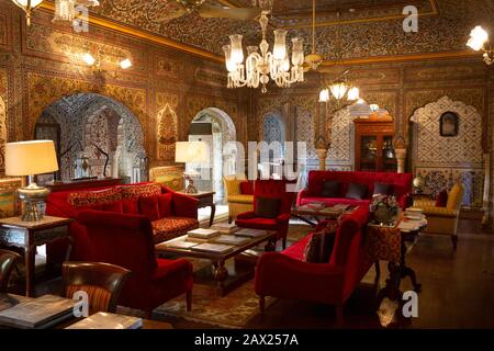
[[[187,308],[192,301],[192,264],[188,260],[155,257],[153,227],[142,215],[102,211],[81,211],[79,222],[86,226],[89,257],[94,262],[116,264],[132,271],[119,298],[119,305],[153,309],[183,293]]]

